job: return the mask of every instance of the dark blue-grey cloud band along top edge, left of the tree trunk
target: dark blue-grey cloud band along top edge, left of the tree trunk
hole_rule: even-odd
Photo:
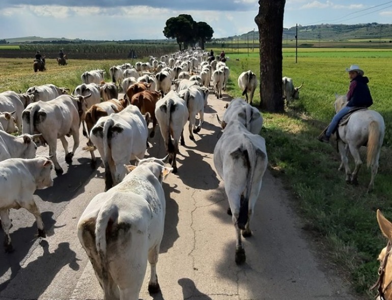
[[[213,11],[249,11],[258,8],[257,1],[243,0],[167,0],[167,1],[142,1],[142,0],[2,0],[1,8],[18,5],[59,5],[67,7],[102,7],[115,8],[122,6],[150,6],[153,8],[173,10],[213,10]]]

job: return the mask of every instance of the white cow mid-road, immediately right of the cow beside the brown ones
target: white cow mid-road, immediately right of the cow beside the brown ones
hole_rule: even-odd
[[[202,129],[204,122],[204,108],[207,106],[209,90],[205,87],[191,86],[179,92],[184,99],[189,112],[189,139],[194,141],[193,133]],[[196,127],[196,115],[199,114],[199,125]]]

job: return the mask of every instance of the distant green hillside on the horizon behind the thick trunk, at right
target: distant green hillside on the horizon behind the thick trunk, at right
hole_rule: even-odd
[[[295,39],[296,28],[284,28],[283,39]],[[246,34],[240,35],[240,40],[252,40],[253,31]],[[255,31],[255,36],[259,36],[259,32]],[[231,40],[237,39],[237,36],[228,37],[219,40]],[[353,39],[384,39],[392,40],[392,24],[379,24],[379,23],[367,23],[367,24],[355,24],[355,25],[344,25],[344,24],[321,24],[321,25],[310,25],[301,26],[298,25],[298,40],[323,40],[323,41],[347,41]]]

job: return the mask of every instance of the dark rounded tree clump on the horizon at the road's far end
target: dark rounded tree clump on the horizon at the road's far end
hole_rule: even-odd
[[[206,22],[196,22],[191,15],[181,14],[166,20],[163,35],[176,39],[180,50],[199,42],[202,49],[206,41],[211,40],[214,30]]]

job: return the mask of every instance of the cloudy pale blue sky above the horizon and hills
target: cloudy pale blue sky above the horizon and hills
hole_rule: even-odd
[[[257,31],[258,10],[255,0],[0,0],[0,39],[165,39],[166,20],[179,14],[207,22],[213,38],[224,38]],[[286,0],[283,25],[372,22],[392,23],[392,1]]]

